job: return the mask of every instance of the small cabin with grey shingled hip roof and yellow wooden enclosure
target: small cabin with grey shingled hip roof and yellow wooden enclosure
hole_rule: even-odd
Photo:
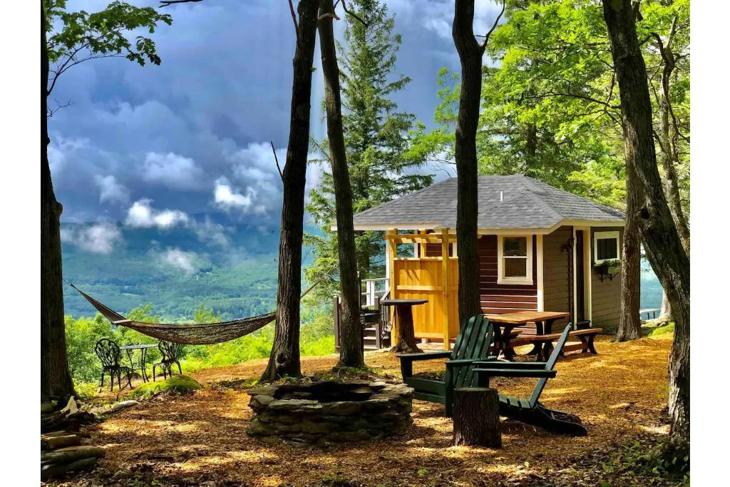
[[[478,198],[483,312],[563,311],[572,323],[618,326],[621,212],[524,175],[479,177]],[[428,299],[413,307],[416,338],[448,349],[459,330],[456,178],[353,221],[384,232],[389,297]]]

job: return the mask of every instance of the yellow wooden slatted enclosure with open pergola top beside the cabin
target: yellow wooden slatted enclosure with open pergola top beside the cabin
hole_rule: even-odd
[[[450,348],[450,340],[458,335],[458,257],[456,234],[450,229],[436,233],[426,230],[399,234],[397,229],[385,232],[388,251],[388,272],[391,298],[428,299],[429,302],[413,307],[415,337],[439,340],[444,349]],[[398,244],[418,245],[416,257],[398,257]],[[441,255],[426,257],[427,244],[440,244]],[[449,244],[453,256],[449,255]],[[398,323],[393,321],[391,337],[398,337]]]

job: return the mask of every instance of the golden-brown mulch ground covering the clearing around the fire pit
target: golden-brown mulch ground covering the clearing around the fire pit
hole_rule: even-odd
[[[588,437],[564,437],[515,421],[502,423],[503,448],[453,447],[443,406],[415,400],[414,424],[389,440],[324,449],[270,446],[248,437],[248,396],[237,383],[257,378],[266,360],[191,374],[204,385],[186,395],[157,396],[88,427],[107,450],[93,472],[58,486],[492,486],[664,485],[661,479],[612,478],[601,469],[627,440],[666,434],[666,366],[671,335],[615,343],[599,355],[567,354],[541,401],[574,413]],[[519,349],[518,349],[519,350]],[[305,374],[325,372],[337,356],[302,358]],[[379,375],[399,380],[392,353],[366,354]],[[418,363],[416,372],[442,369]],[[232,381],[232,382],[231,382]],[[223,386],[221,386],[223,383]],[[504,380],[500,392],[527,397],[534,380]]]

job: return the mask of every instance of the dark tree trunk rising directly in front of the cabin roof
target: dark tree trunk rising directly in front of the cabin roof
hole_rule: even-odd
[[[474,0],[456,0],[452,36],[461,59],[461,94],[456,121],[456,242],[459,326],[482,312],[477,248],[477,126],[482,95],[484,47],[474,37]]]

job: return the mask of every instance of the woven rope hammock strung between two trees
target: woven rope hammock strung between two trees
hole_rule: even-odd
[[[69,285],[76,291],[79,291],[79,294],[84,296],[113,325],[126,326],[148,337],[157,338],[166,342],[181,343],[183,345],[210,345],[212,343],[234,340],[263,328],[276,318],[276,313],[269,312],[266,315],[252,316],[233,321],[222,321],[220,323],[142,323],[141,321],[128,320],[110,307],[96,301],[96,299],[93,299],[72,283],[69,283]],[[304,294],[307,294],[310,289],[307,289]]]

